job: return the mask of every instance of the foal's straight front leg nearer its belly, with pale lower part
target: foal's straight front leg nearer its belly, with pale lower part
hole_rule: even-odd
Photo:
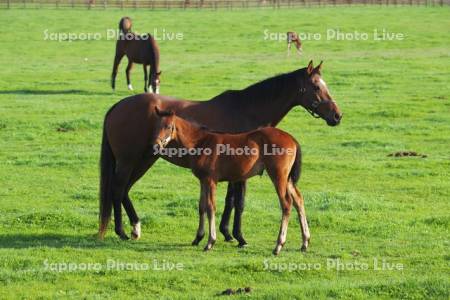
[[[208,216],[209,223],[209,237],[208,243],[206,244],[204,250],[208,251],[214,246],[216,242],[216,183],[210,179],[202,181],[202,202],[203,206],[206,206],[206,214]]]

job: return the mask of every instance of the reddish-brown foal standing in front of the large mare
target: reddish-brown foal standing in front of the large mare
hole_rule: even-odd
[[[208,216],[209,238],[204,250],[210,250],[216,242],[217,183],[247,180],[266,170],[275,186],[282,212],[273,254],[278,255],[286,242],[292,204],[300,221],[301,250],[306,251],[310,239],[308,221],[303,196],[295,186],[300,178],[301,151],[300,145],[290,134],[274,127],[240,134],[211,132],[178,118],[171,111],[160,111],[157,106],[155,111],[160,122],[156,127],[154,154],[161,153],[170,141],[196,152],[187,156],[192,173],[200,180],[200,218],[192,245],[198,245],[205,236],[205,214]],[[223,149],[225,145],[227,149]]]

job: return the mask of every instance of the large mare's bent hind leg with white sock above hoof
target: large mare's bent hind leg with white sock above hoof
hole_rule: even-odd
[[[125,197],[122,200],[123,207],[125,208],[128,219],[130,220],[130,224],[132,226],[131,238],[134,240],[137,240],[141,237],[141,222],[136,213],[136,210],[134,209],[133,203],[131,202],[129,193],[133,185],[147,172],[147,170],[156,162],[157,159],[158,156],[151,156],[136,164],[136,167],[131,174]]]

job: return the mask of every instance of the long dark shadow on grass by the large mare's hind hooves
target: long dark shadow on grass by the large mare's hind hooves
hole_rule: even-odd
[[[2,234],[0,235],[0,249],[26,249],[26,248],[79,248],[79,249],[112,249],[136,251],[179,251],[191,248],[189,243],[149,243],[147,241],[122,241],[115,236],[98,240],[96,235],[68,235],[57,233],[42,234]]]

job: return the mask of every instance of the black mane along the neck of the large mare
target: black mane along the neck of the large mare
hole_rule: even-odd
[[[241,90],[227,90],[211,100],[220,100],[220,98],[226,98],[226,95],[230,94],[233,98],[238,100],[245,99],[246,103],[255,105],[261,103],[261,101],[272,101],[280,95],[280,92],[297,87],[296,80],[299,76],[305,74],[305,70],[306,68],[302,68],[289,73],[275,75]]]

